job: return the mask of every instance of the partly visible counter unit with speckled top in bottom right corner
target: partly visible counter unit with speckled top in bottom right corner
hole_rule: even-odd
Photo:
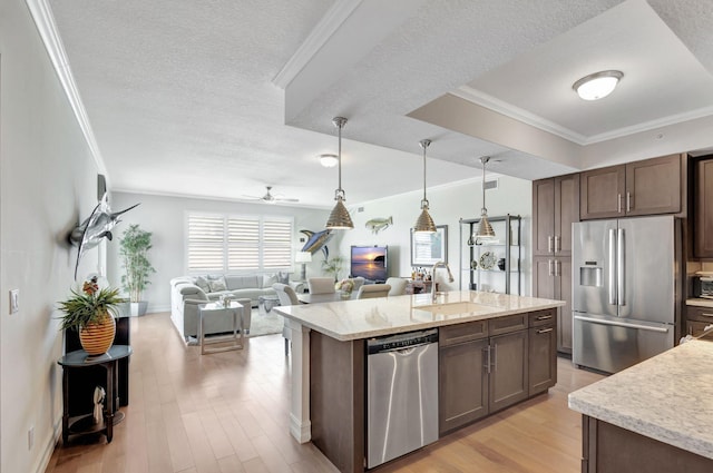
[[[713,471],[713,342],[693,339],[569,394],[583,473]]]

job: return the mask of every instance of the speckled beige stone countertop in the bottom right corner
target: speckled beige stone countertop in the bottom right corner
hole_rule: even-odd
[[[713,459],[713,342],[693,339],[569,394],[569,408]]]

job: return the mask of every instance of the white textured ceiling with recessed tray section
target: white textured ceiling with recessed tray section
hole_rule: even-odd
[[[429,186],[479,177],[484,155],[527,179],[593,167],[585,155],[609,137],[641,152],[713,146],[700,132],[713,114],[707,1],[49,4],[117,190],[241,199],[271,185],[330,207],[336,170],[316,156],[336,151],[334,116],[349,118],[350,205],[418,190],[423,138]],[[572,82],[599,68],[622,69],[621,88],[576,99]]]

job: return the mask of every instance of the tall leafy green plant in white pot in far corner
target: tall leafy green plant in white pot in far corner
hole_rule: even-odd
[[[152,249],[152,233],[143,230],[138,225],[131,225],[124,230],[119,243],[119,256],[126,274],[121,276],[121,287],[129,293],[131,315],[144,315],[148,303],[141,300],[141,293],[150,284],[148,276],[156,269],[148,260],[148,250]]]

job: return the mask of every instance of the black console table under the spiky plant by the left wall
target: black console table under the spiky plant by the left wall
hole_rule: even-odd
[[[113,345],[107,353],[98,356],[90,356],[84,349],[70,352],[57,361],[62,366],[62,443],[67,444],[70,434],[87,434],[104,432],[107,442],[111,442],[114,436],[114,424],[124,420],[123,413],[117,413],[119,408],[118,393],[118,363],[128,359],[131,347],[128,345]],[[104,406],[102,422],[94,422],[92,410],[80,415],[70,415],[70,373],[81,373],[95,366],[100,366],[106,372],[106,401]],[[94,390],[92,390],[94,392]],[[91,393],[82,395],[91,396]]]

